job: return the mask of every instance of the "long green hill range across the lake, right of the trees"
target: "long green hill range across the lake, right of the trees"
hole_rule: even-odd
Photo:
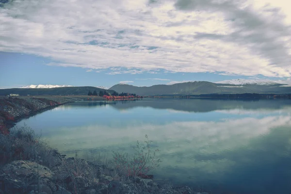
[[[201,95],[201,94],[291,94],[291,87],[285,84],[244,84],[212,83],[209,81],[190,81],[173,85],[153,85],[138,87],[128,84],[113,85],[111,90],[118,93],[128,92],[141,96],[155,95]]]

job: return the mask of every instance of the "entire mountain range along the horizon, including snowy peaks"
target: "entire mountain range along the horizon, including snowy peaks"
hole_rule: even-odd
[[[89,90],[104,91],[108,88],[99,87],[73,87],[69,85],[30,85],[22,88],[2,89],[0,96],[8,94],[26,95],[87,95]],[[152,86],[134,86],[126,83],[113,85],[108,93],[133,93],[140,96],[159,95],[202,95],[202,94],[291,94],[291,80],[226,80],[218,82],[187,81],[173,84],[159,84]]]

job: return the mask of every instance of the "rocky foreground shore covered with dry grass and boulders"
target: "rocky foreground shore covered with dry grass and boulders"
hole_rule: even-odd
[[[127,176],[100,160],[66,158],[31,129],[0,134],[0,194],[210,194]]]

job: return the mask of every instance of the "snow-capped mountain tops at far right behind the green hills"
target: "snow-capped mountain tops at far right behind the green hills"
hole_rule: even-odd
[[[215,83],[225,83],[225,84],[232,84],[232,85],[246,85],[246,84],[257,84],[257,85],[275,85],[275,84],[286,84],[291,85],[290,80],[244,80],[244,79],[237,79],[237,80],[225,80],[225,81],[217,81]]]

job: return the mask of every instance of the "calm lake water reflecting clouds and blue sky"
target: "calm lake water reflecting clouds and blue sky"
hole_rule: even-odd
[[[291,100],[76,102],[24,123],[61,153],[84,157],[110,158],[147,134],[161,150],[155,178],[214,194],[291,193]]]

